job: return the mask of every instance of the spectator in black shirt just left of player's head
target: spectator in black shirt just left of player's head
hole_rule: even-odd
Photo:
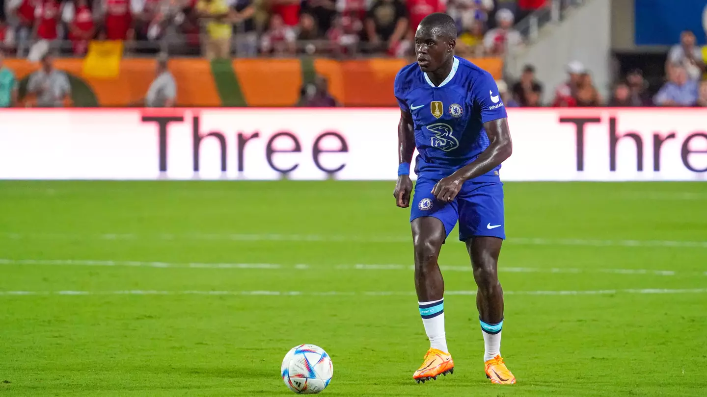
[[[402,55],[400,42],[407,35],[407,9],[399,0],[375,0],[366,17],[366,37],[374,52]]]

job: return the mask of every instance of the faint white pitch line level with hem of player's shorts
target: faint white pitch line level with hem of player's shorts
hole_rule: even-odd
[[[453,237],[453,236],[452,236]],[[457,242],[450,237],[450,242]],[[232,241],[232,242],[362,242],[395,243],[412,241],[409,236],[344,236],[344,235],[285,235],[285,234],[204,234],[189,233],[183,235],[159,234],[138,235],[133,233],[107,233],[80,235],[71,233],[0,233],[3,239],[100,239],[100,240],[158,240],[158,241]],[[707,248],[707,241],[674,240],[636,240],[636,239],[547,239],[530,237],[509,237],[508,244],[518,245],[566,245],[585,247],[668,247],[668,248]]]

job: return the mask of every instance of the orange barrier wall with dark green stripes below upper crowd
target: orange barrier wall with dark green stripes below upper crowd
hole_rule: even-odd
[[[501,78],[503,61],[473,59],[474,63]],[[296,105],[300,87],[316,74],[329,80],[332,95],[346,106],[396,106],[395,75],[403,59],[173,59],[169,68],[177,80],[177,105],[182,107]],[[18,79],[39,69],[24,59],[6,59]],[[71,78],[76,106],[126,107],[142,104],[155,77],[154,59],[122,59],[117,78],[96,78],[83,73],[82,59],[57,59],[57,69]]]

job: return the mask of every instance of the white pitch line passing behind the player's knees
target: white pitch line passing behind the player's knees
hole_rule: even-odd
[[[402,264],[354,264],[354,265],[312,265],[298,263],[294,265],[281,263],[173,263],[162,261],[92,261],[78,259],[0,259],[0,266],[127,266],[144,268],[221,268],[221,269],[275,269],[275,270],[307,270],[307,269],[337,269],[337,270],[366,270],[366,271],[413,271],[413,265]],[[440,266],[442,271],[472,271],[472,266]],[[524,268],[501,266],[501,273],[610,273],[625,275],[676,275],[676,271],[649,270],[649,269],[595,269],[595,268]],[[684,272],[681,274],[687,274]],[[701,273],[707,275],[707,273]]]

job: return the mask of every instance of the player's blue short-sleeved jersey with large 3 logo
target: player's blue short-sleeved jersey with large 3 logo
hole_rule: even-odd
[[[400,109],[412,114],[418,177],[442,179],[474,161],[489,146],[484,123],[506,117],[496,81],[491,74],[454,57],[449,76],[435,86],[418,64],[409,64],[395,76]],[[479,182],[498,181],[499,165]]]

